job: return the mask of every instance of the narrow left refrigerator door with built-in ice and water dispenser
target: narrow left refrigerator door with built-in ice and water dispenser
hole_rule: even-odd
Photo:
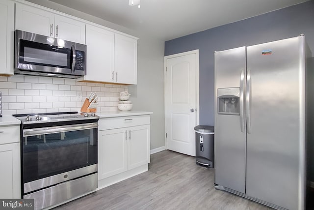
[[[245,47],[240,47],[215,52],[214,181],[241,193],[245,193],[245,51]],[[233,97],[237,95],[239,98]],[[218,114],[222,99],[218,97],[225,97],[227,109],[239,111],[224,114],[222,108]],[[234,109],[237,100],[239,109]]]

